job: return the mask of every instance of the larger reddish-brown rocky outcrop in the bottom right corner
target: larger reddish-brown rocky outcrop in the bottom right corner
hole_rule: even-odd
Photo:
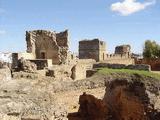
[[[160,86],[150,85],[152,88],[139,79],[131,81],[116,79],[108,82],[104,102],[110,111],[111,118],[114,120],[158,120]]]

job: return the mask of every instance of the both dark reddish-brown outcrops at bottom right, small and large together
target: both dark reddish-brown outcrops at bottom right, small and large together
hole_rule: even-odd
[[[79,104],[80,120],[159,120],[160,81],[139,75],[109,79],[102,100],[83,94]]]

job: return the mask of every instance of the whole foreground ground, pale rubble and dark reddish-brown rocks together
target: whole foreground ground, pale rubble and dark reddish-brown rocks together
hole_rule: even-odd
[[[7,68],[0,77],[0,120],[160,120],[160,80],[152,77],[10,79]]]

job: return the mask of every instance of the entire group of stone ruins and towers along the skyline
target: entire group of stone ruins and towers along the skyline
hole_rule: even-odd
[[[117,46],[115,54],[108,55],[106,43],[99,39],[79,41],[79,58],[76,57],[69,52],[68,30],[60,33],[47,30],[26,31],[26,43],[26,52],[12,54],[13,72],[23,71],[59,80],[77,80],[85,79],[96,62],[134,64],[130,45]],[[132,68],[139,69],[137,66]],[[146,66],[142,68],[146,70]],[[147,70],[148,68],[147,66]]]

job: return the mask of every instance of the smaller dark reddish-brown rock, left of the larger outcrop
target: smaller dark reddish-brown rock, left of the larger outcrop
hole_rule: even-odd
[[[107,107],[101,99],[83,93],[79,98],[79,104],[78,113],[82,120],[105,120],[107,118]]]

